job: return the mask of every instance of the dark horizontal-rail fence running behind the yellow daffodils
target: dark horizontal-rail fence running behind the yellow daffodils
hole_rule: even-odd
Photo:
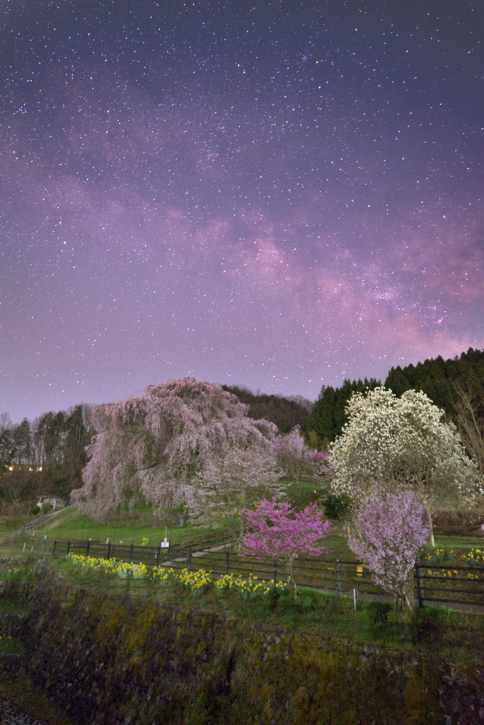
[[[4,542],[4,546],[7,542]],[[233,574],[247,578],[249,574],[261,581],[285,581],[288,571],[278,560],[238,555],[230,550],[231,542],[199,542],[183,546],[149,547],[134,544],[114,544],[78,539],[47,540],[33,537],[28,542],[10,542],[27,552],[54,556],[81,554],[94,558],[116,559],[146,566],[167,566],[175,570],[204,569],[215,576]],[[370,570],[361,562],[320,558],[299,558],[293,563],[294,579],[299,587],[312,587],[336,595],[352,594],[382,597],[385,592],[372,581]],[[417,563],[414,568],[414,595],[423,606],[425,602],[447,605],[477,605],[484,607],[484,567],[435,566]]]

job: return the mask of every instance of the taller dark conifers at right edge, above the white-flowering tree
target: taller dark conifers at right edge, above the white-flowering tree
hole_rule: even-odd
[[[484,399],[484,350],[470,347],[460,357],[443,360],[443,357],[428,358],[424,363],[391,368],[385,380],[385,388],[400,397],[409,389],[427,394],[435,405],[454,418],[455,388],[472,388],[482,401]]]

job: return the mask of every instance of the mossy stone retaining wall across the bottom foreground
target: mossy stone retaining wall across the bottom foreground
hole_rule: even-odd
[[[214,613],[33,587],[34,681],[87,725],[477,725],[484,673]]]

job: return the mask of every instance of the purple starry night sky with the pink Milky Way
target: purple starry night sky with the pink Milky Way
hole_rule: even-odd
[[[0,412],[484,347],[481,1],[0,17]]]

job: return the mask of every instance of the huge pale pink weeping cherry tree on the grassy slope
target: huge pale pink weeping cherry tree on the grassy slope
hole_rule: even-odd
[[[93,410],[84,485],[72,500],[100,521],[138,502],[183,507],[199,520],[233,517],[262,488],[278,492],[277,428],[247,418],[248,406],[221,386],[193,378],[149,386]]]

